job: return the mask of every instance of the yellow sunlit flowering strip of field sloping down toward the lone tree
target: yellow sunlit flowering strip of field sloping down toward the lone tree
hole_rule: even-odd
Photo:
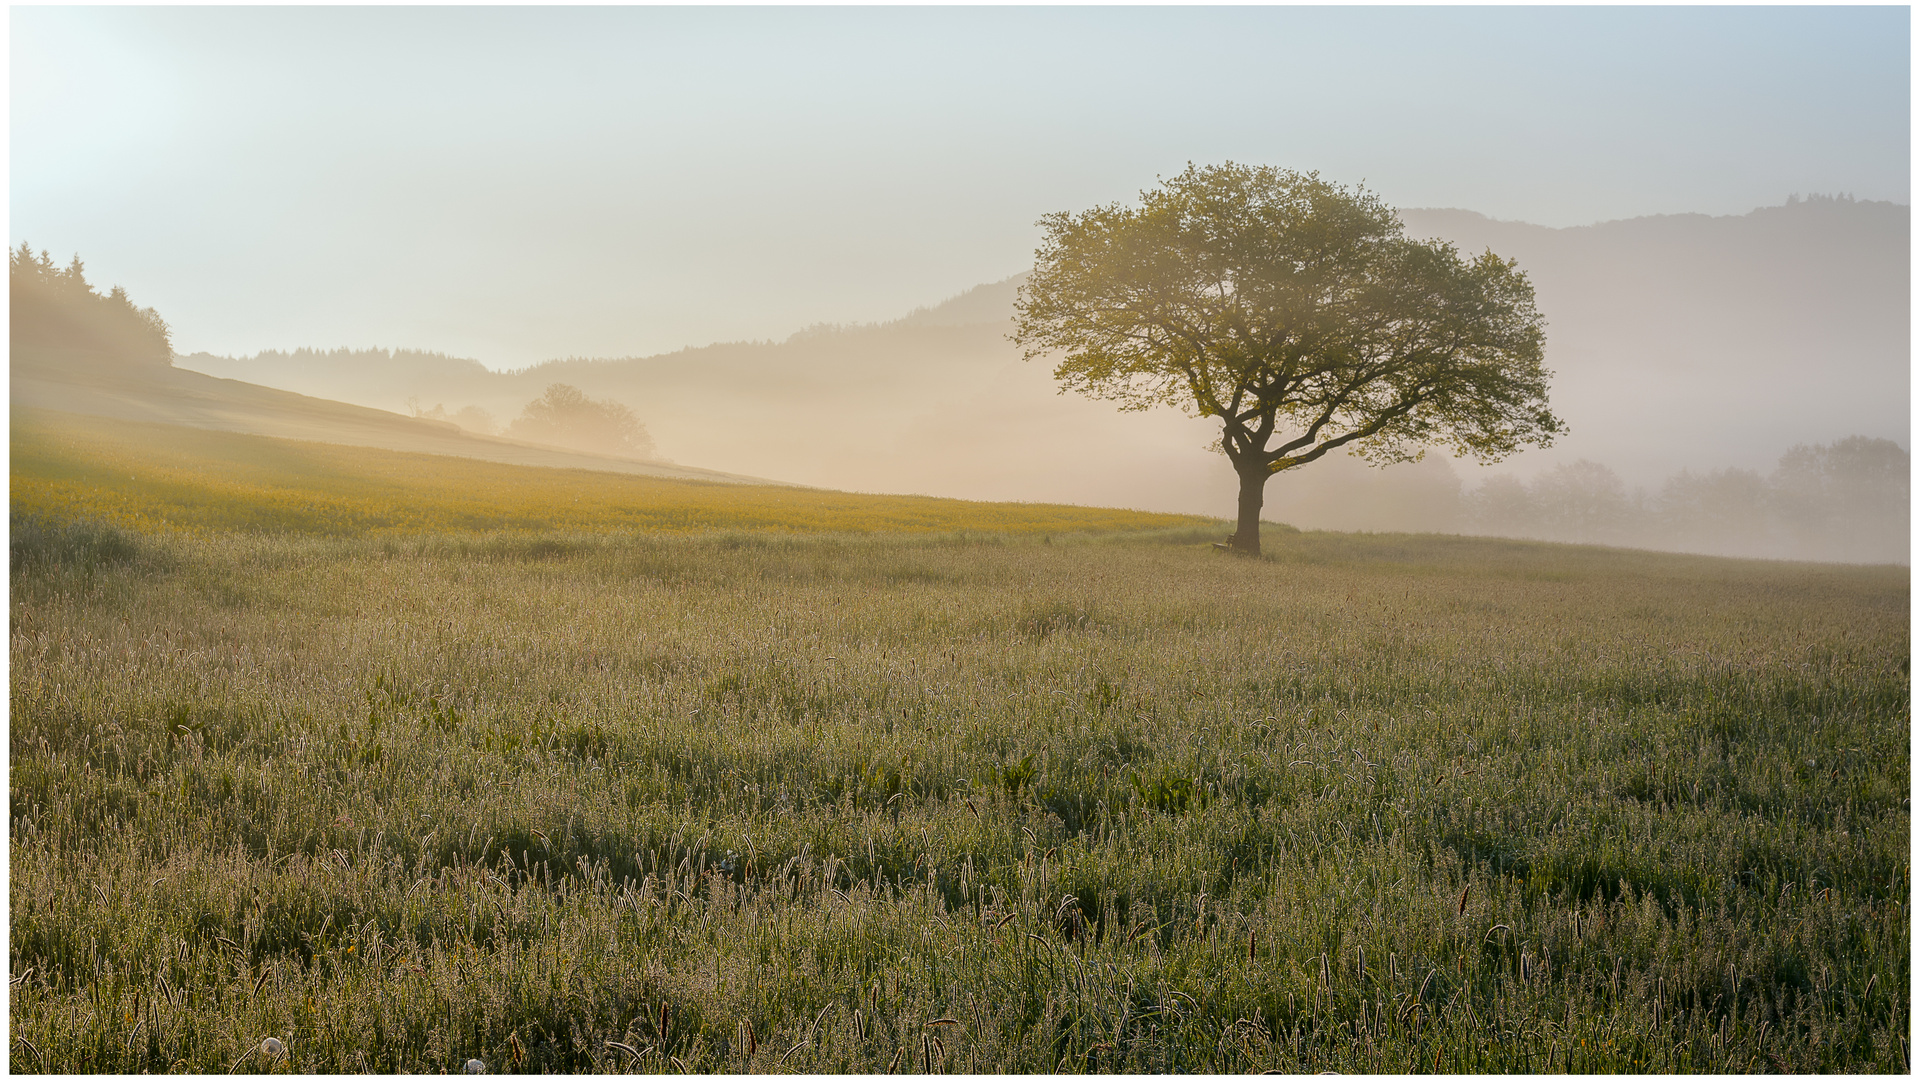
[[[1204,517],[1129,509],[499,465],[36,409],[15,409],[12,421],[15,517],[86,517],[140,530],[1046,534],[1217,525]]]

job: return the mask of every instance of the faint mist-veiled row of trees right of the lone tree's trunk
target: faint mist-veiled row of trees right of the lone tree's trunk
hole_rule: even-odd
[[[1574,461],[1461,492],[1461,528],[1488,536],[1622,544],[1774,559],[1905,563],[1908,454],[1885,438],[1795,446],[1772,475],[1682,469],[1659,492]]]

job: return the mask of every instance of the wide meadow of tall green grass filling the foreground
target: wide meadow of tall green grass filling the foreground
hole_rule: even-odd
[[[19,438],[13,1070],[1908,1068],[1903,567]]]

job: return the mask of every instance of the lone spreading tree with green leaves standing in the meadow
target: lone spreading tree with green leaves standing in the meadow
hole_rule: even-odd
[[[1231,548],[1260,553],[1267,479],[1350,448],[1498,461],[1549,446],[1546,334],[1511,261],[1411,240],[1365,188],[1188,165],[1140,206],[1041,219],[1014,342],[1062,392],[1219,417],[1240,477]]]

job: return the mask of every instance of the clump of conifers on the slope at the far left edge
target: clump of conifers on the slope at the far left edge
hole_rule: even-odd
[[[90,371],[173,365],[173,336],[159,311],[134,306],[117,284],[106,296],[94,292],[79,256],[61,269],[23,242],[8,261],[13,363]]]

